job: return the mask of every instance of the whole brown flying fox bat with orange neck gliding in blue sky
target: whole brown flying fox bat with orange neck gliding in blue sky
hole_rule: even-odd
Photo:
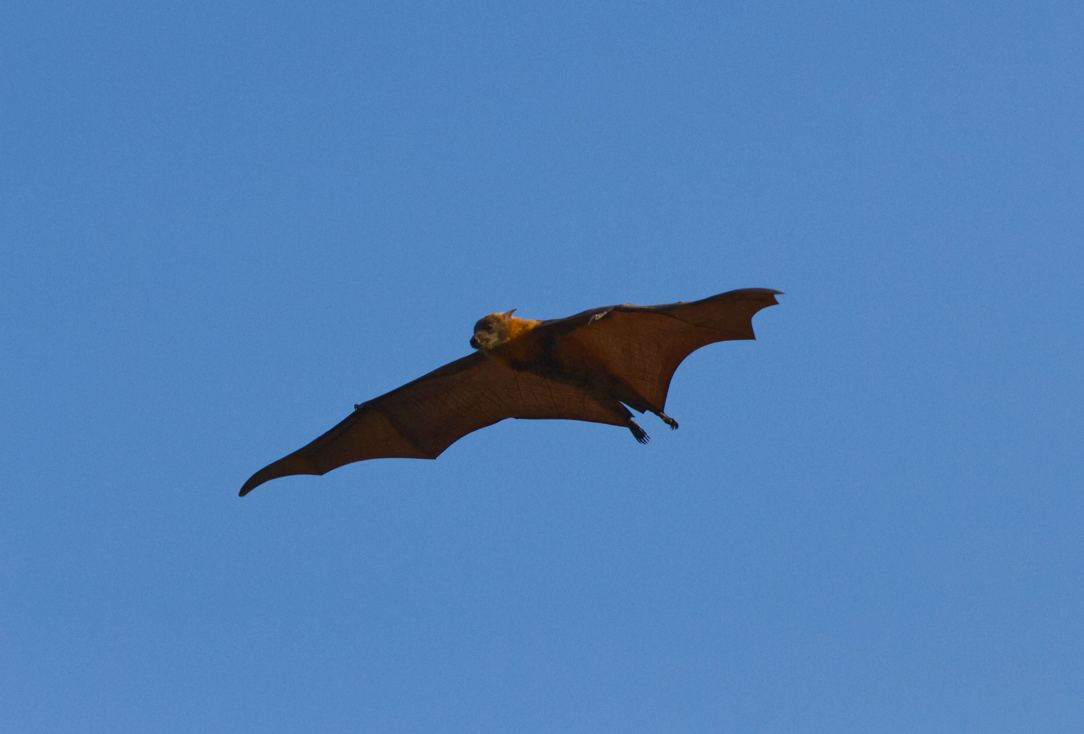
[[[475,324],[474,354],[353,406],[331,431],[253,474],[241,496],[280,476],[326,474],[364,459],[436,459],[472,431],[505,418],[624,425],[646,444],[629,408],[678,428],[662,412],[678,365],[706,344],[754,339],[753,314],[778,303],[782,292],[745,288],[547,322],[516,318],[515,309],[490,314]]]

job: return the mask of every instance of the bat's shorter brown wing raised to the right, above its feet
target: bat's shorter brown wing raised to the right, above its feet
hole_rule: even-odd
[[[537,330],[550,332],[558,354],[590,355],[620,385],[615,396],[629,407],[661,411],[685,357],[717,341],[754,339],[753,314],[778,303],[782,292],[744,288],[687,303],[605,306],[543,322]]]

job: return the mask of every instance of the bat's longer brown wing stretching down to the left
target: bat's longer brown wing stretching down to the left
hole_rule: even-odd
[[[240,494],[280,476],[325,474],[364,459],[436,459],[472,431],[505,418],[623,423],[578,388],[475,353],[360,405],[327,433],[253,474]]]

